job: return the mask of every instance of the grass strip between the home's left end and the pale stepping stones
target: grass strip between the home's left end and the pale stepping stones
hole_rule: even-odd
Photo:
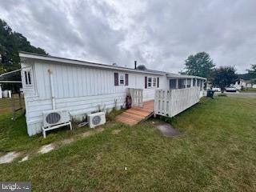
[[[108,122],[103,128],[113,123],[114,116],[122,113],[122,110],[114,110],[107,115]],[[42,145],[51,142],[58,142],[64,139],[73,138],[78,139],[82,134],[91,131],[88,126],[78,127],[77,123],[73,123],[73,130],[70,131],[68,126],[59,128],[57,130],[50,130],[46,133],[46,138],[42,138],[42,134],[29,137],[26,133],[26,118],[22,114],[18,114],[18,118],[11,120],[12,114],[5,113],[0,115],[0,152],[6,153],[8,151],[23,151],[33,152],[38,150]]]

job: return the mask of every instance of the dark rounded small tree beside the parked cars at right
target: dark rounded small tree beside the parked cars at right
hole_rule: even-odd
[[[235,71],[233,66],[220,66],[214,69],[211,74],[211,82],[213,86],[220,87],[223,93],[226,86],[230,86],[231,83],[238,80],[238,75]]]

